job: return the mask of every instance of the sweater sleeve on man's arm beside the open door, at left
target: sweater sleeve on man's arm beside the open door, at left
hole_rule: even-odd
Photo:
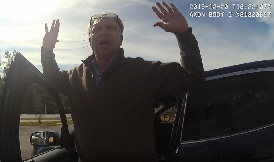
[[[43,67],[43,74],[49,80],[51,86],[57,91],[68,95],[69,92],[69,72],[61,70],[55,61],[55,54],[53,50],[46,51],[41,47],[41,63]]]

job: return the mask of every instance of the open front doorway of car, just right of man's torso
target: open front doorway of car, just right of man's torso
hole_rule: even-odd
[[[158,96],[155,101],[154,130],[156,152],[159,161],[173,161],[176,148],[180,145],[181,126],[188,93]],[[172,107],[176,109],[172,110]],[[168,121],[160,116],[168,115]],[[162,120],[162,121],[161,121]]]

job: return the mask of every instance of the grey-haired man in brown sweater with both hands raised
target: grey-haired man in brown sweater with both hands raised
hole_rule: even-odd
[[[192,28],[174,4],[156,5],[160,11],[152,10],[162,22],[153,26],[175,34],[182,66],[125,58],[120,47],[122,20],[104,13],[92,16],[88,25],[94,54],[74,69],[60,71],[53,53],[60,23],[54,20],[50,31],[45,25],[43,73],[57,92],[69,97],[79,161],[158,161],[153,124],[156,96],[203,85],[203,65]]]

